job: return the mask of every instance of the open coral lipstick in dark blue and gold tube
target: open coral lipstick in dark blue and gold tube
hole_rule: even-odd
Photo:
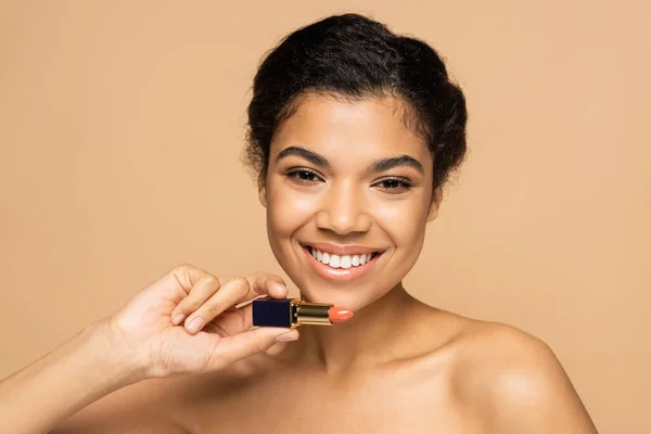
[[[332,326],[353,318],[349,309],[301,298],[258,298],[253,301],[252,308],[255,327]]]

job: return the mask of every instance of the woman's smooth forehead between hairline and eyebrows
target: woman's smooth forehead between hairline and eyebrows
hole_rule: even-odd
[[[408,154],[426,168],[431,154],[423,138],[405,123],[406,105],[395,98],[344,99],[309,94],[271,143],[271,161],[284,148],[299,145],[335,162],[360,162]]]

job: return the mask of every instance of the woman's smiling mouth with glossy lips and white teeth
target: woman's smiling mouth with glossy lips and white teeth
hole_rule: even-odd
[[[329,243],[302,244],[302,247],[317,275],[333,281],[350,281],[365,276],[384,253],[382,250]]]

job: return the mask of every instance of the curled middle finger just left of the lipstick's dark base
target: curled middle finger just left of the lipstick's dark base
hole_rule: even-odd
[[[214,292],[208,299],[199,306],[186,320],[186,330],[197,333],[205,324],[234,306],[239,299],[251,291],[248,281],[244,278],[232,279],[222,283],[219,291]],[[192,293],[188,297],[190,297]]]

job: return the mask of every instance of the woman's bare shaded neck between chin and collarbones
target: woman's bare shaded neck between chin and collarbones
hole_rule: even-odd
[[[382,298],[356,311],[353,319],[331,327],[306,326],[301,339],[285,352],[302,365],[329,373],[352,366],[383,363],[400,357],[400,336],[410,314],[420,306],[399,283]]]

